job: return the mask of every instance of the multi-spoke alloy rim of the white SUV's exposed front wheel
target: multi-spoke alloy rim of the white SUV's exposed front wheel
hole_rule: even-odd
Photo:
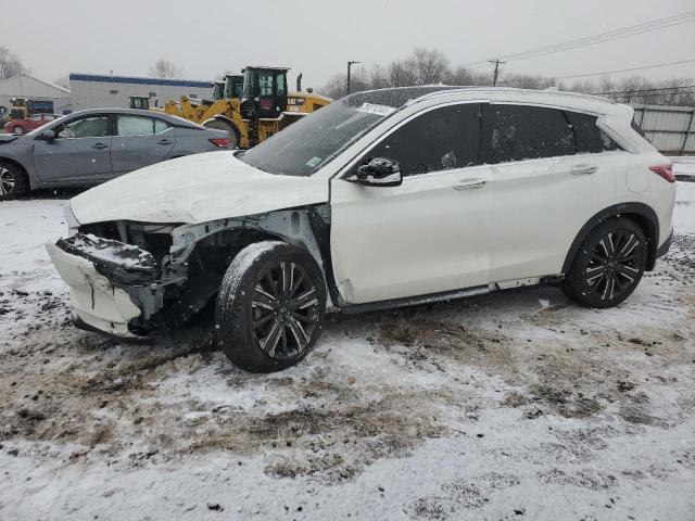
[[[261,350],[291,359],[308,346],[318,325],[318,295],[300,265],[281,262],[261,276],[251,298],[252,331]]]

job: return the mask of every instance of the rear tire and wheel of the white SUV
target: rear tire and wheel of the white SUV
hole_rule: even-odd
[[[647,264],[644,231],[614,217],[598,225],[577,252],[563,292],[590,307],[612,307],[635,290]]]

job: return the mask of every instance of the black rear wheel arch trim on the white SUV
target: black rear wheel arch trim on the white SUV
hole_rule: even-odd
[[[589,234],[603,221],[612,217],[623,217],[632,220],[644,231],[647,238],[646,270],[652,271],[656,263],[656,252],[659,245],[659,218],[656,212],[644,203],[620,203],[608,206],[595,214],[581,227],[567,252],[563,264],[563,274],[567,275],[572,266],[574,256]]]

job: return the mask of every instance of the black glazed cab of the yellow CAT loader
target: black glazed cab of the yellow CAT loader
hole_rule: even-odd
[[[289,68],[247,67],[243,73],[241,113],[244,118],[280,117],[287,110]]]

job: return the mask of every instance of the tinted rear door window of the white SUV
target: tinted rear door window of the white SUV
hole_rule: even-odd
[[[484,122],[483,148],[491,164],[577,152],[572,127],[556,109],[489,105]]]

